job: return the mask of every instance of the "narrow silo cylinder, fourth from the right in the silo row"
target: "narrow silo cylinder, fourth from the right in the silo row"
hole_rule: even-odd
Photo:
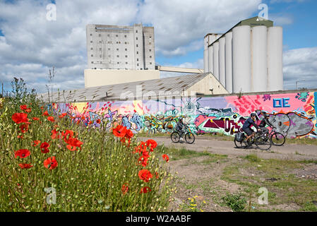
[[[225,35],[226,90],[232,93],[232,32]]]

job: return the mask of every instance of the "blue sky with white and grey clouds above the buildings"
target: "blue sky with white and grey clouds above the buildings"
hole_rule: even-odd
[[[203,37],[258,16],[261,4],[283,28],[284,89],[317,88],[314,0],[0,0],[0,83],[11,90],[13,77],[23,78],[46,93],[54,66],[55,91],[84,88],[87,24],[154,26],[155,63],[203,69]]]

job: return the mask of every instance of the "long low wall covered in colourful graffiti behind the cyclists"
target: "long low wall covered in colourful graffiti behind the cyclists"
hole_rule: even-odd
[[[288,138],[317,138],[317,92],[246,95],[237,97],[182,97],[165,100],[80,102],[54,104],[57,114],[68,113],[75,123],[110,129],[118,124],[134,133],[170,133],[179,117],[195,133],[239,133],[252,112],[270,114],[269,121]]]

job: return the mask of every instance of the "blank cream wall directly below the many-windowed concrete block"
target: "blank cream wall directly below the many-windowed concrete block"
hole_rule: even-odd
[[[158,70],[85,69],[85,88],[159,79]]]

